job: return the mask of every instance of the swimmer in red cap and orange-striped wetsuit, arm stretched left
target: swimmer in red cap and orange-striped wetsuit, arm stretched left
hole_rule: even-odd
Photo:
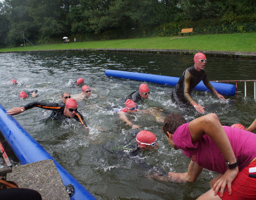
[[[76,121],[80,122],[87,129],[87,125],[83,115],[79,113],[77,110],[76,100],[71,98],[69,98],[66,101],[66,104],[65,103],[44,103],[40,101],[34,101],[20,108],[18,107],[11,108],[6,112],[6,114],[18,115],[20,113],[23,113],[25,110],[28,110],[34,107],[53,110],[51,117],[53,117],[54,119],[74,118],[76,119]]]

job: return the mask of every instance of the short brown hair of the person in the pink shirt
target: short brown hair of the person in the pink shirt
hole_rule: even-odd
[[[169,137],[167,132],[173,134],[180,125],[185,123],[186,123],[186,120],[183,116],[176,113],[172,113],[165,118],[164,125],[162,127],[162,132],[165,135],[167,135],[167,137]]]

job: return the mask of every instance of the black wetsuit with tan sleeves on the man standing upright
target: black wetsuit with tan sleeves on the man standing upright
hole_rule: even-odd
[[[195,66],[186,69],[180,77],[178,83],[175,85],[171,94],[172,102],[176,102],[179,105],[189,104],[193,99],[190,94],[195,86],[203,81],[204,85],[212,92],[215,91],[212,84],[209,82],[207,73],[205,70],[197,71]]]

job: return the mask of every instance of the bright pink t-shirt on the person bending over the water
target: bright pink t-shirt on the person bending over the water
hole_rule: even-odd
[[[192,143],[188,125],[189,123],[182,124],[174,132],[175,146],[182,149],[184,155],[205,169],[225,173],[226,161],[217,145],[206,134],[199,141]],[[239,171],[241,171],[256,157],[256,134],[230,126],[223,126],[223,129],[239,161]]]

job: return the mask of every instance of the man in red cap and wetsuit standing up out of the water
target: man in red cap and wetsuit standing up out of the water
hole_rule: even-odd
[[[171,99],[173,103],[178,103],[178,105],[191,105],[198,111],[198,113],[203,114],[205,112],[204,107],[198,105],[190,96],[194,87],[199,82],[203,81],[207,89],[217,95],[219,99],[225,100],[225,98],[219,94],[209,82],[207,73],[205,71],[205,65],[207,62],[205,54],[195,54],[194,62],[195,64],[193,67],[190,67],[183,72],[178,83],[174,87],[171,94]]]

